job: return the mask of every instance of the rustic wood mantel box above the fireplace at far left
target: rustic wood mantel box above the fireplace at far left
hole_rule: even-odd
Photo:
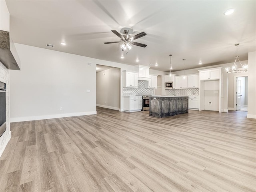
[[[8,69],[20,70],[20,58],[10,39],[10,32],[0,30],[0,62]]]

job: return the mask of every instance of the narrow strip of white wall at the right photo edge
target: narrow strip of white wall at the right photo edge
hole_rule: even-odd
[[[247,118],[256,119],[256,51],[248,53],[248,112]]]

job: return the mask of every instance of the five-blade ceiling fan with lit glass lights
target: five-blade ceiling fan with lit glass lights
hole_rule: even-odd
[[[116,34],[118,37],[121,38],[121,41],[114,41],[114,42],[105,42],[104,44],[110,44],[110,43],[122,43],[122,45],[120,46],[122,48],[122,51],[126,51],[127,49],[132,49],[132,45],[136,45],[136,46],[140,46],[140,47],[146,47],[147,45],[142,44],[142,43],[138,43],[138,42],[133,42],[133,40],[141,38],[143,36],[146,35],[146,33],[141,32],[139,34],[136,34],[134,36],[130,36],[128,35],[129,30],[126,29],[124,30],[124,35],[121,35],[120,33],[118,33],[116,30],[111,30],[114,34]]]

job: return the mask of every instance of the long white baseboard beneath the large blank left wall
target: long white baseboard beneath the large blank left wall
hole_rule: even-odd
[[[10,122],[22,122],[22,121],[34,121],[34,120],[43,120],[43,119],[54,119],[54,118],[63,118],[63,117],[74,117],[74,116],[83,116],[83,115],[95,115],[96,111],[80,112],[80,113],[66,113],[66,114],[54,114],[54,115],[42,115],[42,116],[30,116],[30,117],[17,117],[10,118]]]

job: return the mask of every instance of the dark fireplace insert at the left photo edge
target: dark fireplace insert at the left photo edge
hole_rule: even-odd
[[[0,82],[0,137],[6,130],[6,84]]]

